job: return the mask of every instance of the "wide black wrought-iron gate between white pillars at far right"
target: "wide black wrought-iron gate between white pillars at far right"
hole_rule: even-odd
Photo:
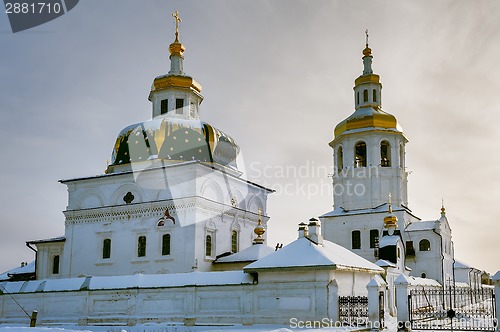
[[[411,290],[408,306],[415,330],[495,331],[493,289]]]

